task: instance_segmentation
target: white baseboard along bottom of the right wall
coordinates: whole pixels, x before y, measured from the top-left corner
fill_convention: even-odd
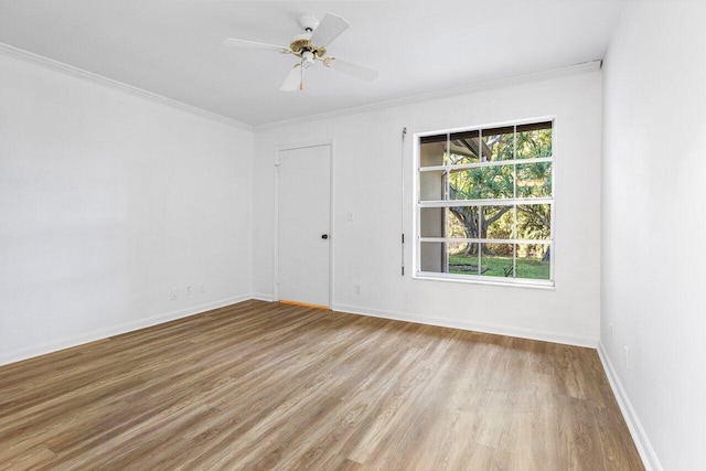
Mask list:
[[[616,368],[613,367],[602,342],[598,343],[598,356],[600,357],[600,362],[603,364],[606,376],[608,376],[608,382],[613,390],[613,396],[616,396],[616,400],[618,400],[620,411],[622,411],[622,416],[628,424],[632,441],[635,442],[640,458],[642,458],[642,464],[644,464],[646,471],[662,471],[663,468],[660,463],[660,459],[657,458],[654,448],[652,448],[648,435],[642,428],[640,418],[638,418],[635,410],[632,408],[630,397],[625,394],[625,389],[622,387],[622,383],[620,383],[620,378],[616,373]]]

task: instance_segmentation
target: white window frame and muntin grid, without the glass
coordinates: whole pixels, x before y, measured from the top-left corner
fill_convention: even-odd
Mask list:
[[[552,157],[542,157],[534,159],[513,159],[513,160],[502,160],[502,161],[491,161],[491,162],[475,162],[475,163],[466,163],[466,164],[456,164],[456,165],[434,165],[434,167],[425,167],[422,168],[420,164],[420,139],[429,136],[439,136],[439,135],[452,135],[456,132],[466,132],[466,131],[479,131],[482,138],[483,129],[492,129],[500,127],[509,127],[509,126],[522,126],[522,125],[532,125],[535,122],[552,122]],[[556,217],[556,154],[557,154],[557,146],[556,146],[556,117],[555,116],[545,116],[545,117],[535,117],[528,119],[521,120],[512,120],[512,121],[502,121],[502,122],[492,122],[484,124],[481,126],[472,126],[472,127],[463,127],[463,128],[453,128],[453,129],[442,129],[437,131],[425,131],[417,132],[414,135],[414,178],[413,178],[413,192],[414,192],[414,215],[413,215],[413,225],[414,225],[414,239],[415,246],[413,250],[413,278],[420,280],[437,280],[437,281],[453,281],[453,282],[467,282],[467,283],[479,283],[479,285],[499,285],[499,286],[513,286],[513,287],[524,287],[524,288],[541,288],[541,289],[553,289],[555,286],[555,259],[556,259],[556,250],[555,250],[555,217]],[[447,141],[448,146],[448,141]],[[429,171],[448,171],[450,169],[454,170],[464,170],[464,169],[474,169],[474,168],[489,168],[495,165],[517,165],[517,164],[527,164],[527,163],[539,163],[539,162],[552,162],[552,197],[533,197],[533,199],[486,199],[486,200],[446,200],[446,201],[420,201],[420,175],[422,172]],[[516,169],[516,167],[515,167]],[[516,186],[515,186],[516,191]],[[516,196],[516,193],[515,193]],[[490,238],[454,238],[454,237],[421,237],[421,226],[420,226],[420,212],[424,207],[451,207],[451,206],[517,206],[522,204],[549,204],[552,205],[550,212],[550,227],[549,227],[549,239],[547,240],[535,240],[535,239],[490,239]],[[516,217],[516,211],[515,211]],[[516,234],[515,234],[516,236]],[[484,275],[460,275],[460,274],[449,274],[449,272],[436,272],[436,271],[421,271],[420,269],[420,258],[421,258],[421,243],[422,242],[438,242],[438,243],[470,243],[470,244],[513,244],[516,250],[517,244],[546,244],[552,250],[552,255],[549,257],[549,279],[531,279],[531,278],[507,278],[507,277],[494,277],[494,276],[484,276]],[[479,259],[481,258],[481,254],[479,250]],[[480,266],[480,263],[479,263]],[[516,266],[516,253],[513,254],[513,271],[515,271]]]

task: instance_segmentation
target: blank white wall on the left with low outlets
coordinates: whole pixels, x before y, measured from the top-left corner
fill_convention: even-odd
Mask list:
[[[0,54],[0,364],[249,298],[252,154],[250,130]]]

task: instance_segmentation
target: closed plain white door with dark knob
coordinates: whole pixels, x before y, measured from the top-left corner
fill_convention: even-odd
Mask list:
[[[278,153],[278,298],[329,307],[331,146]]]

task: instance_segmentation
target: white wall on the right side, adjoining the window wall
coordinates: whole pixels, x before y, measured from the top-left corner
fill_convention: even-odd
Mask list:
[[[646,464],[680,471],[706,469],[704,19],[630,2],[603,67],[600,352]]]

